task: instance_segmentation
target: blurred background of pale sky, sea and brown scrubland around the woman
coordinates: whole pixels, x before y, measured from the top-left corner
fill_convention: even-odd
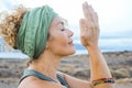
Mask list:
[[[99,16],[99,47],[116,78],[116,88],[132,88],[132,0],[0,0],[0,12],[12,12],[23,4],[35,8],[48,4],[68,22],[74,32],[76,54],[64,57],[58,69],[72,76],[89,79],[88,53],[79,41],[79,19],[84,18],[81,4],[88,3]],[[26,68],[28,56],[10,48],[0,36],[0,88],[16,88]],[[68,59],[67,59],[68,58]]]

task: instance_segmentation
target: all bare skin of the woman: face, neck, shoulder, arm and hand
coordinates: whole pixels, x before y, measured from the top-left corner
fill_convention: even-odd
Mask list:
[[[97,13],[87,2],[82,4],[85,19],[80,19],[80,41],[81,44],[89,52],[91,79],[110,78],[112,77],[108,65],[98,47],[99,25]],[[112,84],[102,84],[94,87],[90,81],[81,80],[68,76],[64,73],[57,72],[57,66],[63,56],[75,53],[73,45],[73,32],[64,26],[59,16],[56,16],[50,28],[50,38],[46,43],[46,48],[37,61],[34,61],[28,69],[34,69],[44,74],[56,82],[41,80],[36,77],[30,76],[25,78],[19,88],[63,88],[56,74],[62,75],[70,88],[113,88]]]

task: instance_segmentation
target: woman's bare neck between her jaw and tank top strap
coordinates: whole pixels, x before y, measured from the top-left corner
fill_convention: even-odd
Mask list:
[[[37,70],[41,74],[51,77],[57,81],[56,69],[59,65],[61,58],[61,56],[54,55],[45,51],[37,61],[34,61],[29,66],[29,69]]]

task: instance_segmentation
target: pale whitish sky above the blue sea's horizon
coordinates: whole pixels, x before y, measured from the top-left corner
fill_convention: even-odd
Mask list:
[[[76,37],[79,35],[79,19],[84,18],[81,3],[85,1],[98,13],[101,37],[132,38],[132,0],[0,0],[0,11],[13,10],[18,4],[28,8],[50,4],[67,19]]]

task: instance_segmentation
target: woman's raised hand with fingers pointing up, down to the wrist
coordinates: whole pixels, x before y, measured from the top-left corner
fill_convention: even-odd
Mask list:
[[[80,41],[86,47],[98,46],[99,24],[98,15],[87,2],[82,4],[85,19],[80,19]]]

